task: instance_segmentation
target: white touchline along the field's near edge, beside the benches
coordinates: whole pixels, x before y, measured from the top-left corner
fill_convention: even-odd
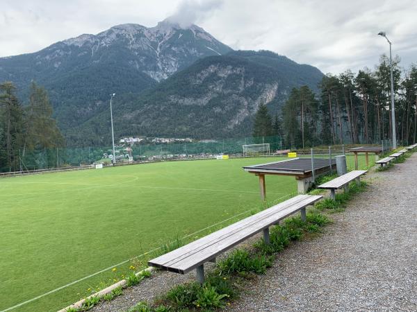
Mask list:
[[[282,199],[282,198],[285,198],[286,196],[288,196],[288,195],[282,196],[281,198],[277,198],[275,201],[280,200],[280,199]],[[203,231],[205,231],[206,229],[210,229],[211,227],[215,227],[216,225],[220,225],[220,224],[222,224],[222,223],[224,223],[224,222],[227,222],[227,221],[229,221],[229,220],[231,220],[231,219],[233,219],[233,218],[236,218],[236,217],[238,217],[238,216],[242,216],[243,214],[247,214],[248,212],[250,212],[250,211],[252,211],[252,210],[253,210],[253,209],[250,209],[250,210],[247,210],[247,211],[240,212],[240,214],[236,214],[236,215],[231,216],[230,218],[224,219],[224,220],[222,220],[222,221],[220,221],[220,222],[218,222],[218,223],[215,223],[215,224],[213,224],[213,225],[209,225],[208,227],[204,227],[204,229],[199,229],[197,232],[194,232],[194,233],[192,233],[192,234],[188,234],[188,235],[186,235],[186,236],[183,236],[183,238],[182,238],[182,239],[186,239],[186,238],[188,238],[188,237],[190,237],[190,236],[193,236],[193,235],[195,235],[195,234],[198,234],[198,233],[200,233],[200,232],[203,232]],[[145,252],[145,253],[143,253],[143,254],[140,254],[139,256],[133,257],[133,258],[131,258],[131,259],[136,259],[136,258],[143,257],[143,256],[145,256],[145,254],[149,254],[149,252],[154,252],[154,251],[159,250],[159,249],[161,249],[161,247],[155,248],[155,249],[153,249],[153,250],[149,250],[149,251],[147,251],[147,252]],[[56,293],[57,291],[60,291],[60,290],[61,290],[61,289],[63,289],[63,288],[67,288],[67,287],[72,286],[72,285],[74,285],[74,284],[76,284],[76,283],[79,283],[80,281],[84,281],[85,279],[89,279],[90,277],[93,277],[93,276],[95,276],[95,275],[99,275],[100,273],[102,273],[102,272],[106,272],[107,270],[111,270],[112,268],[115,268],[116,266],[121,266],[122,264],[124,264],[124,263],[127,263],[127,262],[131,261],[131,259],[127,259],[127,260],[122,261],[122,262],[120,262],[120,263],[114,264],[113,266],[109,266],[108,268],[105,268],[105,269],[103,269],[103,270],[99,270],[98,272],[92,273],[92,274],[90,274],[90,275],[88,275],[88,276],[86,276],[86,277],[83,277],[83,278],[81,278],[81,279],[77,279],[76,281],[72,281],[71,283],[68,283],[68,284],[66,284],[66,285],[64,285],[64,286],[60,286],[60,287],[58,287],[58,288],[55,288],[54,290],[52,290],[52,291],[48,291],[47,293],[44,293],[44,294],[42,294],[42,295],[38,295],[37,297],[33,297],[32,299],[29,299],[29,300],[26,300],[26,301],[21,302],[21,303],[19,303],[19,304],[16,304],[15,306],[10,306],[10,308],[7,308],[6,310],[0,311],[0,312],[6,312],[6,311],[10,311],[10,310],[16,309],[16,308],[18,308],[19,306],[23,306],[24,304],[28,304],[28,303],[30,303],[30,302],[33,302],[33,301],[35,301],[35,300],[38,300],[38,299],[40,299],[40,298],[42,298],[42,297],[45,297],[45,296],[47,296],[47,295],[50,295],[51,293]]]

